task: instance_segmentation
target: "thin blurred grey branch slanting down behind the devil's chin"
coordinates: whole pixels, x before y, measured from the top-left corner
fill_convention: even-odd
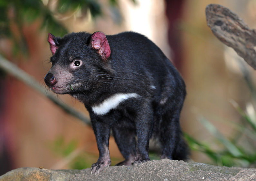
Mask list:
[[[6,60],[2,55],[0,55],[0,69],[2,69],[8,74],[13,75],[15,78],[32,87],[34,90],[37,90],[38,92],[42,93],[44,96],[52,100],[52,102],[54,102],[56,105],[62,108],[66,113],[71,114],[72,116],[82,120],[87,125],[90,125],[90,119],[87,118],[87,116],[78,112],[74,108],[69,107],[61,100],[57,99],[56,96],[54,96],[52,93],[46,93],[44,88],[41,87],[40,84],[32,76],[21,70],[15,64]]]

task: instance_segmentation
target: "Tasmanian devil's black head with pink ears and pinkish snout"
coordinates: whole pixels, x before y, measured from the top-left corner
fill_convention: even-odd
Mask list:
[[[99,86],[100,73],[108,73],[109,42],[103,32],[70,33],[63,38],[48,34],[52,68],[44,82],[57,94],[90,90]]]

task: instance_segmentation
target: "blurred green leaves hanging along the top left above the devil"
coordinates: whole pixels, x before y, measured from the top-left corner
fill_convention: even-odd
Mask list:
[[[135,2],[134,0],[132,0]],[[49,0],[49,2],[51,2]],[[18,52],[27,55],[27,44],[23,34],[26,23],[32,23],[39,19],[41,29],[46,29],[57,36],[67,33],[67,28],[56,17],[65,16],[65,13],[80,11],[86,16],[88,11],[91,17],[102,15],[102,4],[97,0],[56,0],[57,7],[50,8],[43,0],[1,0],[0,1],[0,37],[11,39],[13,42],[13,54]],[[121,21],[117,0],[109,0],[110,8],[113,8],[116,22]],[[58,16],[55,16],[58,15]]]

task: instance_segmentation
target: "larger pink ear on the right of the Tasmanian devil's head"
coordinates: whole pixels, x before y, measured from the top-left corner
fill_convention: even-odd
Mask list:
[[[106,35],[103,32],[97,31],[91,35],[91,47],[98,50],[98,53],[104,60],[107,60],[110,56],[109,42]]]

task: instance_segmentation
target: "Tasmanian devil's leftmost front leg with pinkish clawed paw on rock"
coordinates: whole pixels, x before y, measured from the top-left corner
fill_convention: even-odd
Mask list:
[[[99,159],[91,166],[91,174],[98,175],[104,167],[111,165],[109,156],[109,125],[100,119],[91,119],[92,128],[96,137],[98,150],[100,153]]]

